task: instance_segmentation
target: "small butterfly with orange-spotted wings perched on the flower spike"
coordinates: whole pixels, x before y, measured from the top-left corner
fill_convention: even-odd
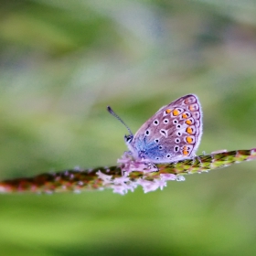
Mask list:
[[[121,123],[123,120],[108,106]],[[131,129],[124,141],[136,160],[171,163],[196,155],[202,130],[202,109],[195,94],[187,94],[162,107],[133,135]]]

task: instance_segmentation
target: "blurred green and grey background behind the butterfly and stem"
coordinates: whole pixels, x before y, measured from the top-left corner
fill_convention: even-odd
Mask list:
[[[187,93],[197,154],[256,147],[255,0],[0,1],[0,178],[114,165]],[[254,255],[256,162],[163,191],[0,196],[0,255]]]

